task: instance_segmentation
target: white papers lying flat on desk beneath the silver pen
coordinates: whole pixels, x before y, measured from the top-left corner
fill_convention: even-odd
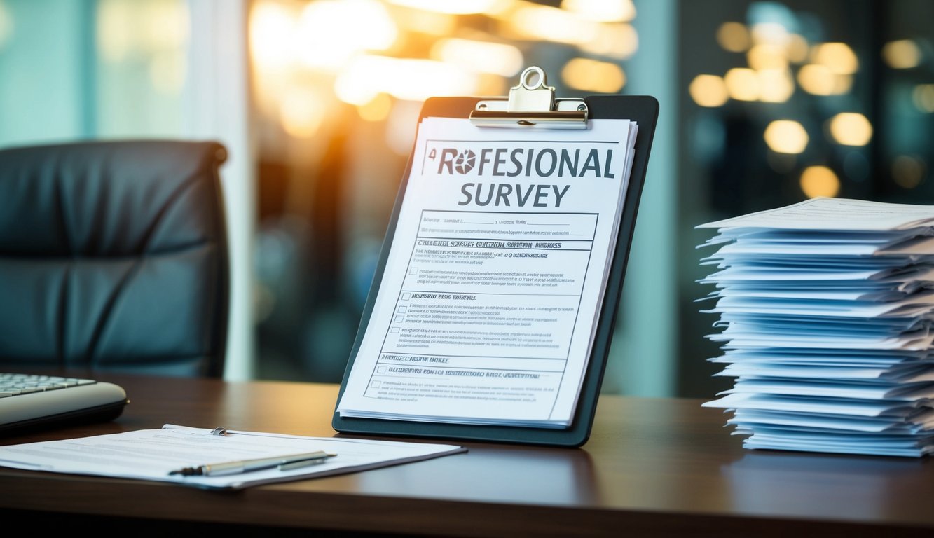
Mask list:
[[[277,466],[239,474],[182,475],[178,469],[215,463],[277,458],[321,450],[334,455],[312,465]],[[303,437],[212,430],[166,424],[92,437],[0,446],[0,466],[50,473],[91,474],[173,482],[205,489],[240,489],[333,474],[347,474],[466,452],[463,446]]]

